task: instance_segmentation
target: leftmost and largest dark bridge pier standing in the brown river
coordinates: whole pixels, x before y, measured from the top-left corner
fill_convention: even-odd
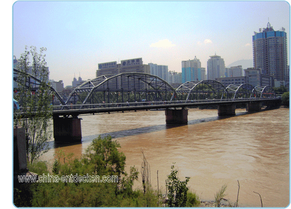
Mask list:
[[[80,142],[82,139],[81,119],[74,118],[54,118],[54,138],[55,141]]]

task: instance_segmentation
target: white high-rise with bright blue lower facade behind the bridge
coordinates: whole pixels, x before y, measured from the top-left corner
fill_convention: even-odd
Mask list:
[[[193,60],[182,61],[182,83],[202,80],[205,80],[205,68],[201,68],[196,56]]]

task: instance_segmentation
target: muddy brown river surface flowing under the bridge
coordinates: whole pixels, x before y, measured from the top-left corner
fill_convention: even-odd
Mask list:
[[[200,200],[214,200],[227,184],[225,198],[239,207],[287,207],[290,204],[289,109],[218,117],[217,110],[189,109],[188,124],[165,124],[164,111],[139,111],[80,116],[82,143],[56,147],[40,159],[50,164],[56,151],[84,154],[92,139],[111,135],[126,156],[126,170],[140,171],[142,151],[151,169],[151,184],[165,194],[171,166]],[[59,144],[58,144],[59,146]],[[135,188],[142,188],[141,175]],[[257,193],[254,193],[257,192]]]

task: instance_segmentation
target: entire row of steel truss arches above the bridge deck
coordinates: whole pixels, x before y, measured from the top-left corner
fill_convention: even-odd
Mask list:
[[[13,80],[14,91],[18,90],[18,75],[21,73],[14,70]],[[27,78],[26,86],[34,91],[39,88],[40,80],[29,73],[25,73]],[[214,80],[188,81],[176,90],[161,78],[138,72],[120,73],[117,75],[102,75],[95,79],[88,80],[76,87],[66,101],[58,92],[50,86],[52,101],[56,96],[62,105],[67,105],[76,97],[81,102],[79,104],[127,104],[141,102],[159,101],[185,101],[194,100],[218,100],[218,99],[239,99],[239,98],[272,98],[275,91],[270,86],[253,87],[249,84],[229,85],[224,87],[220,82]],[[72,99],[73,98],[73,99]]]

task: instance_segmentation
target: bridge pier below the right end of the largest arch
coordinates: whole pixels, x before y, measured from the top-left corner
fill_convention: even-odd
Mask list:
[[[188,109],[166,109],[166,124],[188,123]]]

